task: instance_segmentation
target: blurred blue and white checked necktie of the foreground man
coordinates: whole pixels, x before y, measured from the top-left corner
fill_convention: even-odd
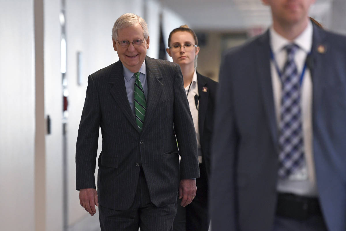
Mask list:
[[[284,47],[287,60],[281,79],[280,108],[280,153],[279,177],[287,178],[302,166],[304,162],[304,142],[300,108],[300,76],[294,62],[294,54],[299,49],[295,44]]]

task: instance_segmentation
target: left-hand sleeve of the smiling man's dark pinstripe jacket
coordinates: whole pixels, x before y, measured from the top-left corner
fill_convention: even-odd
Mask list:
[[[100,127],[100,102],[92,75],[88,87],[79,124],[76,144],[76,189],[96,188],[95,165]]]

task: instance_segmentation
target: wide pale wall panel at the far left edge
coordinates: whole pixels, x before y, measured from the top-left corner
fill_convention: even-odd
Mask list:
[[[0,229],[33,231],[33,0],[0,0],[0,6]]]

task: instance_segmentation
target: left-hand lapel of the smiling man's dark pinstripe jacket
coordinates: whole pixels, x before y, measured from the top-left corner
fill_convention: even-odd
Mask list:
[[[130,124],[132,124],[136,128],[136,130],[140,132],[135,122],[135,117],[133,115],[127,98],[124,73],[122,70],[122,63],[120,62],[120,60],[116,62],[113,66],[113,69],[109,76],[108,83],[112,85],[110,89],[110,94],[113,96],[113,98],[121,108],[122,112],[124,112]]]

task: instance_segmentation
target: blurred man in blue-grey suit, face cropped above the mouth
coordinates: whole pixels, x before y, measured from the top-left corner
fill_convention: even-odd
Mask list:
[[[315,0],[263,0],[273,25],[220,68],[212,230],[346,230],[346,38]]]

